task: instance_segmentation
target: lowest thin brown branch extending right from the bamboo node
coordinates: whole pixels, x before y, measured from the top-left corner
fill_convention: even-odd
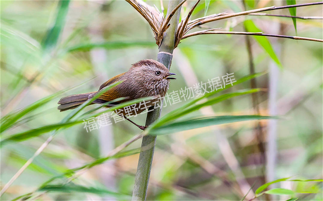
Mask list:
[[[262,32],[230,32],[230,31],[198,31],[193,32],[191,34],[186,34],[183,36],[182,39],[188,38],[190,36],[194,35],[200,35],[200,34],[238,34],[238,35],[257,35],[257,36],[269,36],[269,37],[277,37],[277,38],[289,38],[294,40],[305,40],[305,41],[316,41],[316,42],[323,42],[322,39],[317,38],[308,38],[308,37],[300,37],[300,36],[287,36],[287,35],[277,35],[277,34],[263,34]]]

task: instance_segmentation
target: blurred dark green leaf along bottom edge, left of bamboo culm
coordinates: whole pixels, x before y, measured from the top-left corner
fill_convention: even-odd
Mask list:
[[[116,193],[113,191],[109,191],[107,189],[98,188],[98,187],[85,187],[85,186],[76,185],[76,184],[47,185],[47,186],[41,187],[40,189],[38,189],[38,191],[51,191],[51,192],[56,191],[56,192],[65,192],[65,193],[81,192],[81,193],[93,193],[98,195],[112,195],[118,198],[120,197],[130,198],[129,195]]]

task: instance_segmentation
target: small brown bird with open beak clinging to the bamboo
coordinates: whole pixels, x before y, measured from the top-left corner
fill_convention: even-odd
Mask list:
[[[137,63],[132,64],[129,71],[121,73],[114,76],[110,80],[104,82],[100,87],[99,91],[104,87],[118,81],[123,81],[117,86],[109,89],[105,93],[99,96],[96,100],[92,102],[103,104],[108,101],[113,101],[117,98],[126,97],[126,99],[108,104],[107,107],[115,106],[121,102],[130,101],[142,97],[155,96],[155,97],[164,97],[166,91],[169,87],[169,80],[176,79],[173,77],[168,77],[170,75],[176,75],[175,73],[169,72],[169,70],[161,63],[153,59],[141,60]],[[98,91],[70,95],[64,98],[61,98],[58,101],[58,110],[65,111],[77,108],[83,102],[91,99]],[[135,122],[128,119],[127,115],[139,114],[142,111],[146,110],[148,106],[154,105],[154,102],[158,98],[151,101],[147,101],[146,107],[140,107],[140,104],[136,104],[131,110],[127,112],[125,110],[119,110],[123,114],[123,117],[136,125],[138,128],[144,130],[146,126],[140,126]]]

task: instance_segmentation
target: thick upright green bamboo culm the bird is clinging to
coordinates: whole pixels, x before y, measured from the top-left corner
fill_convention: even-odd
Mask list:
[[[168,16],[172,10],[180,3],[180,0],[173,0],[168,3]],[[170,26],[163,35],[163,40],[159,47],[157,61],[163,63],[168,69],[172,63],[172,53],[174,50],[175,33],[179,23],[181,8],[179,8],[170,21]],[[146,126],[153,123],[160,117],[161,108],[148,112],[146,118]],[[142,138],[141,151],[135,177],[135,185],[132,192],[132,200],[146,200],[149,176],[151,171],[151,163],[154,155],[156,136],[146,135]]]

